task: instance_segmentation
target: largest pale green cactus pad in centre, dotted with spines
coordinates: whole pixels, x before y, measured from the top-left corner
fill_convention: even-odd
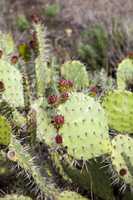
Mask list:
[[[69,99],[58,107],[58,114],[64,116],[60,134],[69,155],[88,160],[110,153],[104,110],[92,97],[71,93]]]

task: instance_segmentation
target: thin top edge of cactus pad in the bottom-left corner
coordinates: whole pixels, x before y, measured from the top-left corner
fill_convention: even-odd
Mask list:
[[[10,194],[6,195],[4,198],[0,198],[0,200],[32,200],[30,197],[26,197],[23,195]]]

